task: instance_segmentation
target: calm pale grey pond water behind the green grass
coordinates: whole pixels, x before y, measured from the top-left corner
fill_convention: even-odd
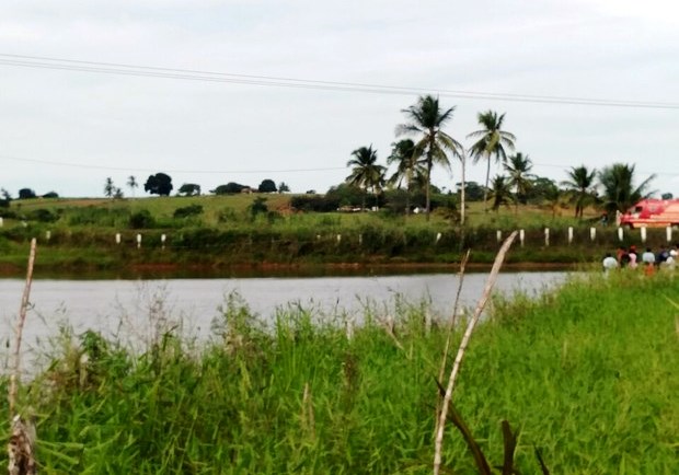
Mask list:
[[[500,274],[496,292],[536,293],[563,281],[566,273]],[[461,292],[462,305],[474,305],[481,297],[486,274],[468,274]],[[24,282],[0,279],[0,327],[3,340],[11,336]],[[38,279],[31,291],[32,308],[24,340],[35,345],[57,333],[67,321],[77,333],[88,328],[107,335],[120,331],[136,332],[148,322],[149,312],[182,320],[196,336],[209,334],[210,322],[218,315],[226,296],[238,292],[251,310],[271,321],[276,309],[299,304],[314,313],[347,315],[361,320],[367,302],[393,303],[396,296],[417,303],[430,301],[434,316],[452,312],[458,275],[422,274],[398,276],[314,277],[314,278],[217,278],[217,279]]]

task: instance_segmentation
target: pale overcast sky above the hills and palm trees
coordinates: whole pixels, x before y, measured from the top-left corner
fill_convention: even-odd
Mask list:
[[[99,197],[111,177],[143,196],[163,172],[175,190],[325,192],[359,147],[385,163],[433,94],[467,147],[492,109],[539,176],[629,163],[679,197],[678,58],[669,0],[8,0],[0,187]],[[460,177],[452,161],[433,182]]]

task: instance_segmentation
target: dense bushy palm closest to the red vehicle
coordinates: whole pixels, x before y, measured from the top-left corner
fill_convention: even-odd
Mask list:
[[[624,212],[640,199],[647,198],[654,192],[648,192],[651,181],[655,174],[634,186],[634,165],[613,163],[599,172],[599,183],[603,187],[603,207],[609,212]]]

